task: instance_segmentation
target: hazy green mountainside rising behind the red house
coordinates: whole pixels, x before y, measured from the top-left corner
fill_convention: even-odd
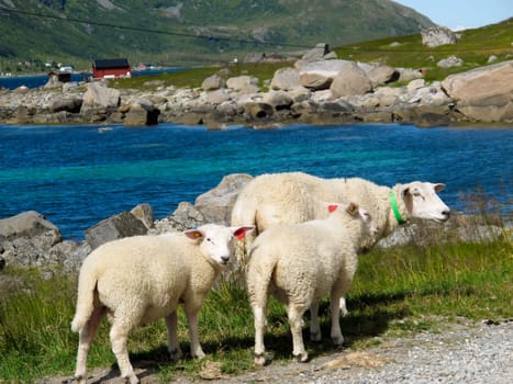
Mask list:
[[[133,65],[205,64],[432,25],[389,0],[0,0],[0,71],[18,61],[89,66],[111,57]]]

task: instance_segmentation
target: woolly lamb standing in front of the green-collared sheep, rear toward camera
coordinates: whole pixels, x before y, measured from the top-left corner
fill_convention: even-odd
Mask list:
[[[268,297],[272,293],[287,306],[293,355],[308,361],[302,338],[302,317],[310,307],[310,337],[321,340],[319,302],[331,296],[331,337],[342,346],[339,298],[344,296],[358,264],[361,241],[378,228],[369,213],[355,203],[331,204],[327,218],[301,224],[275,225],[253,244],[247,268],[247,291],[255,316],[255,363],[265,364],[264,328]]]

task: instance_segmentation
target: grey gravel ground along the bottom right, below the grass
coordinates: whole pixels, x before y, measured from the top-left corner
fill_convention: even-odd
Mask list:
[[[436,331],[409,337],[386,336],[365,350],[343,350],[308,363],[274,362],[252,373],[224,376],[208,362],[202,376],[175,375],[172,383],[312,383],[312,384],[509,384],[513,383],[513,319],[443,323]],[[372,340],[370,340],[372,341]],[[155,366],[136,369],[142,384],[161,383]],[[93,370],[89,383],[122,383],[116,369]],[[38,383],[73,383],[53,377]]]

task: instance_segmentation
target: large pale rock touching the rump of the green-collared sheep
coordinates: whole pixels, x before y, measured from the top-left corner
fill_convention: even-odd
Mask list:
[[[230,225],[232,207],[241,190],[253,179],[246,173],[225,176],[213,190],[199,195],[194,206],[209,222]]]

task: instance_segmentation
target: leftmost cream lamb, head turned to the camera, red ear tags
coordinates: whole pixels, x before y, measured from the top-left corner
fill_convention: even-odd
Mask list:
[[[165,317],[171,359],[182,355],[177,338],[177,306],[183,303],[191,354],[203,358],[198,313],[222,268],[233,255],[232,238],[243,239],[254,226],[207,224],[183,233],[134,236],[107,242],[83,261],[71,329],[79,332],[75,377],[87,381],[87,355],[103,315],[121,376],[138,383],[129,360],[129,332]]]

